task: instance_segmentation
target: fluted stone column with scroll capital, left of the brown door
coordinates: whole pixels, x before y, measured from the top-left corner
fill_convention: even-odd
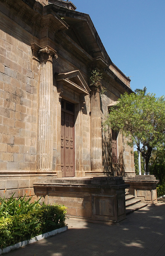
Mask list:
[[[52,170],[53,163],[53,67],[52,58],[56,52],[46,46],[39,51],[39,108],[38,108],[38,154],[37,169]]]

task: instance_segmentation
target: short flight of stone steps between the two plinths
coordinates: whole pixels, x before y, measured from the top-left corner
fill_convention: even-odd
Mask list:
[[[135,212],[143,207],[147,206],[146,203],[141,202],[141,199],[135,198],[135,196],[129,194],[129,192],[125,193],[125,210],[126,214],[131,212]]]

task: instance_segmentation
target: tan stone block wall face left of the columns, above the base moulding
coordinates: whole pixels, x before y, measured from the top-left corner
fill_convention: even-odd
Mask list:
[[[0,170],[36,170],[38,70],[30,46],[5,29],[0,38]]]

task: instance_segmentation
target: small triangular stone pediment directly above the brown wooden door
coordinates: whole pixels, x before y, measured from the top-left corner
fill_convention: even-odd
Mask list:
[[[79,94],[89,94],[90,89],[79,70],[57,75],[57,83],[62,83]]]

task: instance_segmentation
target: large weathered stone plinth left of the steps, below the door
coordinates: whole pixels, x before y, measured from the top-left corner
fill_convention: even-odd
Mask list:
[[[125,185],[121,177],[54,179],[35,183],[37,198],[64,204],[68,216],[90,221],[119,222],[125,215]]]

